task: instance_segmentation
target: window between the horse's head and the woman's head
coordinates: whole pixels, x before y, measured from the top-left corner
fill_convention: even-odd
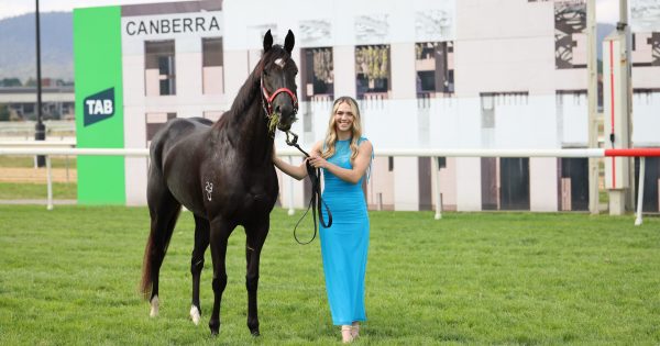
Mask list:
[[[334,99],[334,66],[332,48],[300,49],[300,78],[302,83],[302,100]]]

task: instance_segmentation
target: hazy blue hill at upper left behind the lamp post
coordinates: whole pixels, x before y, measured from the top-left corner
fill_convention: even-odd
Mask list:
[[[42,78],[74,80],[72,12],[40,14]],[[0,20],[0,79],[36,79],[34,13]]]

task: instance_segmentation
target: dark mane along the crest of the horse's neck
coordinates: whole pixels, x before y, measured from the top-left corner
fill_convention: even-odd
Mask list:
[[[273,45],[271,49],[263,54],[250,76],[248,76],[245,83],[243,83],[237,98],[231,104],[231,109],[222,114],[213,126],[222,126],[222,123],[227,121],[227,118],[241,116],[241,114],[244,114],[250,110],[252,102],[255,102],[255,100],[261,102],[261,76],[263,71],[270,69],[278,58],[287,60],[290,58],[290,54],[288,54],[283,46]]]

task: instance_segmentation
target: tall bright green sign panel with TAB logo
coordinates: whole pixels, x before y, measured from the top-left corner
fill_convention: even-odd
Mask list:
[[[123,148],[121,7],[74,11],[76,138]],[[78,203],[125,204],[123,156],[78,156]]]

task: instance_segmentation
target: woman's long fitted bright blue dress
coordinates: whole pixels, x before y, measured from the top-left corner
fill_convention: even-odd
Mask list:
[[[361,137],[359,143],[366,141]],[[328,158],[342,168],[352,168],[350,139],[338,141]],[[350,183],[323,169],[322,198],[332,213],[332,225],[320,230],[321,256],[332,323],[348,325],[366,321],[364,274],[369,248],[369,215],[362,180]],[[326,210],[323,217],[327,220]]]

